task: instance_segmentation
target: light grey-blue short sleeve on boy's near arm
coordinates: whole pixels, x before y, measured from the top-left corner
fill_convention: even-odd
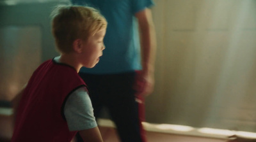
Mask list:
[[[85,87],[77,89],[68,96],[63,111],[70,131],[97,127],[92,102]]]

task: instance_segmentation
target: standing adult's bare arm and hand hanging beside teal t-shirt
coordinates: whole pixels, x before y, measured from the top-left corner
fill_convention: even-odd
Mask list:
[[[138,76],[138,80],[143,82],[143,86],[137,85],[136,89],[140,91],[140,95],[147,96],[154,88],[156,33],[150,9],[145,8],[145,10],[138,11],[135,16],[138,19],[141,42],[142,71],[141,75]]]

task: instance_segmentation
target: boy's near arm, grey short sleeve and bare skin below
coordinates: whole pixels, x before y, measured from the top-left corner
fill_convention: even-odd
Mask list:
[[[85,87],[75,90],[68,96],[63,112],[70,131],[78,131],[84,141],[102,141]]]

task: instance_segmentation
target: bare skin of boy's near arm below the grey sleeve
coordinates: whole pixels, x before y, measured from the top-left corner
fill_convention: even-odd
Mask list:
[[[98,127],[79,131],[79,134],[83,138],[84,141],[92,141],[92,142],[102,142],[103,141]]]

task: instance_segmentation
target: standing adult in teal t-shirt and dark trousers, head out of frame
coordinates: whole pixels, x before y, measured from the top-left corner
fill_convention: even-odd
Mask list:
[[[91,94],[95,117],[106,106],[120,139],[145,140],[141,125],[143,96],[154,87],[156,37],[150,6],[152,0],[71,0],[92,6],[106,17],[106,49],[93,69],[79,75]],[[141,111],[142,110],[142,111]]]

